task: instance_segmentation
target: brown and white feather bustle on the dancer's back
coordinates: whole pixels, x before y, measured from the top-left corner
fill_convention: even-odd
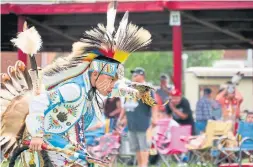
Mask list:
[[[12,66],[8,68],[8,75],[1,74],[0,147],[3,154],[11,153],[17,147],[16,138],[28,114],[29,91],[27,92],[27,87],[24,85],[28,85],[28,83],[25,83],[26,81],[31,81],[29,77],[24,78],[25,73],[23,72],[26,71],[26,67],[23,65],[23,63],[18,61],[16,62],[15,68]],[[22,82],[20,82],[20,77],[22,78]],[[15,86],[14,83],[16,84]]]

